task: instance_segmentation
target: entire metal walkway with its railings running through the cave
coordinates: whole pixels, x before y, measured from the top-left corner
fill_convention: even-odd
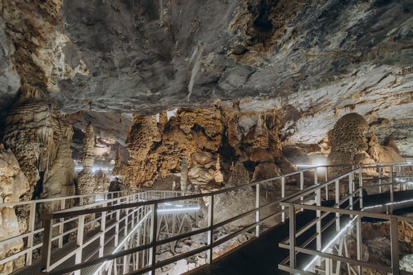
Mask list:
[[[78,205],[84,205],[69,209],[62,209],[67,199],[61,198],[60,204],[53,202],[60,205],[61,210],[41,214],[44,229],[36,229],[33,225],[29,227],[32,232],[12,238],[23,238],[28,243],[18,255],[25,256],[28,266],[14,274],[36,274],[39,271],[41,274],[157,274],[171,263],[200,254],[207,254],[207,265],[188,274],[288,272],[338,275],[337,270],[343,266],[347,266],[348,274],[362,274],[363,267],[372,265],[363,262],[359,255],[361,236],[357,235],[357,259],[352,259],[347,253],[343,236],[353,225],[357,232],[360,231],[361,217],[388,219],[392,228],[390,239],[394,243],[397,221],[413,223],[412,218],[392,214],[394,209],[412,203],[409,199],[398,201],[398,194],[413,189],[412,166],[411,163],[353,166],[349,173],[332,180],[328,178],[328,170],[333,167],[311,167],[203,194],[166,196],[161,193],[148,195],[145,191],[115,199],[94,195],[95,202],[89,204],[82,203],[87,199],[76,198],[80,201]],[[381,197],[387,197],[387,200],[377,205],[368,204],[366,190],[369,196],[386,193]],[[214,214],[218,210],[214,201],[231,199],[238,192],[251,196],[254,203],[246,203],[248,209],[231,213],[230,218]],[[326,206],[323,201],[332,205]],[[30,203],[34,202],[26,204],[35,210],[37,206]],[[365,209],[359,211],[363,206]],[[383,210],[387,214],[381,213]],[[204,224],[197,223],[198,215],[204,216]],[[227,225],[239,221],[242,221],[241,227],[232,227],[232,231],[224,235],[218,234]],[[331,232],[338,237],[330,243]],[[36,234],[44,235],[43,243],[36,243],[36,239],[40,239]],[[220,256],[219,248],[242,234],[255,237],[233,252]],[[200,243],[191,250],[173,253],[167,259],[159,258],[160,250],[167,247],[173,251],[177,242],[193,236],[197,236]],[[278,243],[284,249],[283,253],[279,253]],[[41,260],[34,261],[40,247]],[[9,261],[11,257],[15,259],[16,256],[10,256]],[[309,257],[314,259],[309,263],[303,260]],[[394,246],[392,266],[374,267],[393,274],[411,274],[399,270],[399,258],[399,251]],[[0,261],[6,262],[7,259]],[[237,263],[242,268],[231,267],[230,272],[228,263]],[[249,265],[254,265],[254,269],[247,267]]]

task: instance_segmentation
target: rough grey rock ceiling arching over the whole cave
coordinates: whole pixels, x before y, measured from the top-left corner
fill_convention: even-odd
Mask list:
[[[0,1],[1,120],[37,97],[120,142],[132,113],[215,104],[308,144],[354,111],[413,155],[412,71],[412,0]]]

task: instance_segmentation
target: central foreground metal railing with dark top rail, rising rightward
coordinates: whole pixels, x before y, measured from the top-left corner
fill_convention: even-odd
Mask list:
[[[279,201],[286,197],[288,193],[288,187],[294,186],[296,190],[304,190],[305,186],[317,185],[318,173],[317,167],[307,168],[305,170],[299,170],[288,175],[282,175],[275,177],[273,179],[267,179],[264,181],[258,181],[250,184],[245,184],[242,186],[235,186],[231,188],[226,188],[224,190],[218,190],[215,192],[207,192],[202,194],[184,195],[182,197],[169,197],[160,198],[151,201],[136,201],[131,203],[125,203],[123,205],[114,205],[100,208],[89,208],[85,210],[71,210],[71,211],[58,211],[49,214],[43,214],[42,219],[45,220],[45,240],[42,251],[42,271],[43,274],[62,274],[69,272],[76,272],[76,274],[81,274],[81,270],[91,267],[93,265],[103,265],[107,261],[115,261],[116,259],[121,259],[125,255],[132,255],[136,253],[145,252],[148,255],[147,263],[144,267],[139,267],[134,270],[133,274],[156,274],[160,267],[169,265],[181,259],[186,259],[189,256],[194,256],[202,252],[207,253],[207,262],[211,263],[214,259],[214,252],[218,249],[219,245],[231,241],[237,238],[240,234],[254,234],[255,236],[260,236],[262,232],[270,228],[272,225],[284,221],[286,218],[284,208],[279,207]],[[265,190],[265,196],[263,196],[262,190]],[[271,190],[273,192],[271,193]],[[295,192],[294,191],[294,192]],[[182,191],[185,192],[185,191]],[[238,212],[231,214],[230,217],[221,217],[215,212],[218,211],[215,206],[216,201],[229,201],[231,198],[236,197],[237,192],[241,192],[243,195],[247,194],[252,196],[249,199],[250,203],[243,203],[244,208],[237,209]],[[291,191],[293,192],[293,191]],[[268,195],[269,194],[269,195]],[[248,201],[245,197],[240,197],[242,201]],[[271,199],[272,198],[272,199]],[[160,221],[159,216],[162,210],[168,204],[175,205],[189,205],[189,201],[201,200],[207,201],[204,207],[204,225],[200,225],[197,228],[193,228],[190,232],[184,232],[180,234],[173,234],[164,239],[159,238],[159,232],[156,230],[158,228],[158,222]],[[136,243],[134,247],[123,248],[123,250],[105,254],[103,256],[98,256],[95,259],[81,261],[81,256],[78,256],[78,260],[71,267],[64,269],[56,269],[57,264],[50,262],[50,257],[52,254],[52,241],[54,236],[52,235],[52,227],[54,220],[56,219],[84,219],[85,216],[94,214],[96,216],[104,216],[104,213],[109,211],[116,212],[120,210],[134,210],[137,208],[146,207],[150,209],[149,211],[149,243]],[[234,225],[235,223],[235,225]],[[218,234],[223,228],[230,228],[230,230],[225,230],[227,234]],[[103,233],[99,233],[103,234]],[[183,252],[181,254],[175,254],[158,261],[156,251],[162,245],[167,245],[172,242],[176,242],[191,236],[198,236],[202,239],[202,245],[197,245],[197,248],[190,250],[189,252]],[[80,243],[80,245],[82,245]],[[81,253],[81,248],[78,248],[77,252]],[[72,255],[73,256],[73,255]],[[126,269],[125,269],[126,270]],[[130,271],[130,270],[129,270]],[[125,272],[125,271],[124,271]]]

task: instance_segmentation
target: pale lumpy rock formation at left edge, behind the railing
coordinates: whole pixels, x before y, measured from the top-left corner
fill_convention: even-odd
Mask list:
[[[12,151],[0,144],[0,203],[19,201],[29,184]],[[25,232],[26,223],[17,217],[12,207],[0,207],[0,241]],[[16,254],[23,248],[23,239],[5,243],[0,248],[0,259]],[[0,265],[0,274],[10,274],[24,265],[24,256]]]

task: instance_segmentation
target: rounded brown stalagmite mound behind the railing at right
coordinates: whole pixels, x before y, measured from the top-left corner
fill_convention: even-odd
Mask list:
[[[358,113],[348,113],[337,120],[331,131],[331,151],[328,164],[368,164],[374,162],[403,162],[399,149],[390,140],[390,146],[377,144],[374,133],[367,136],[369,124]],[[333,173],[341,175],[351,169],[336,168]]]

